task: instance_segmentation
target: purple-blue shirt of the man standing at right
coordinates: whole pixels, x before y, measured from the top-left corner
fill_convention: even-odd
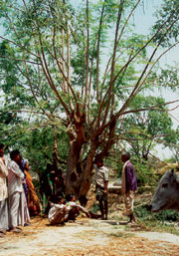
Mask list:
[[[135,168],[130,161],[125,166],[125,186],[126,191],[136,191],[137,189]]]

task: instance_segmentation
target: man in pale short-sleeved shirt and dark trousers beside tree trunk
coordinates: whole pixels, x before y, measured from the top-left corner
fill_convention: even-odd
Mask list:
[[[108,169],[103,166],[102,159],[95,161],[95,198],[99,202],[102,219],[107,219],[108,214]]]

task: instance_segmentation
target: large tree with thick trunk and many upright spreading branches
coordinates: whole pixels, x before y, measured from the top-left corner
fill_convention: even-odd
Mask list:
[[[132,112],[160,109],[128,107],[152,86],[155,64],[178,44],[157,55],[178,25],[179,5],[148,37],[135,34],[130,21],[143,2],[0,0],[2,89],[17,95],[11,111],[43,115],[49,125],[66,128],[67,193],[79,198],[89,190],[93,160],[107,156],[116,141],[117,122]],[[9,64],[15,69],[11,81]],[[23,96],[29,109],[20,102]]]

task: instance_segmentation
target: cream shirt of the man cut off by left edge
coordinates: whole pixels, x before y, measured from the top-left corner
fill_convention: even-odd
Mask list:
[[[8,169],[0,157],[0,201],[5,200],[8,197],[8,189],[6,178],[8,176]]]

